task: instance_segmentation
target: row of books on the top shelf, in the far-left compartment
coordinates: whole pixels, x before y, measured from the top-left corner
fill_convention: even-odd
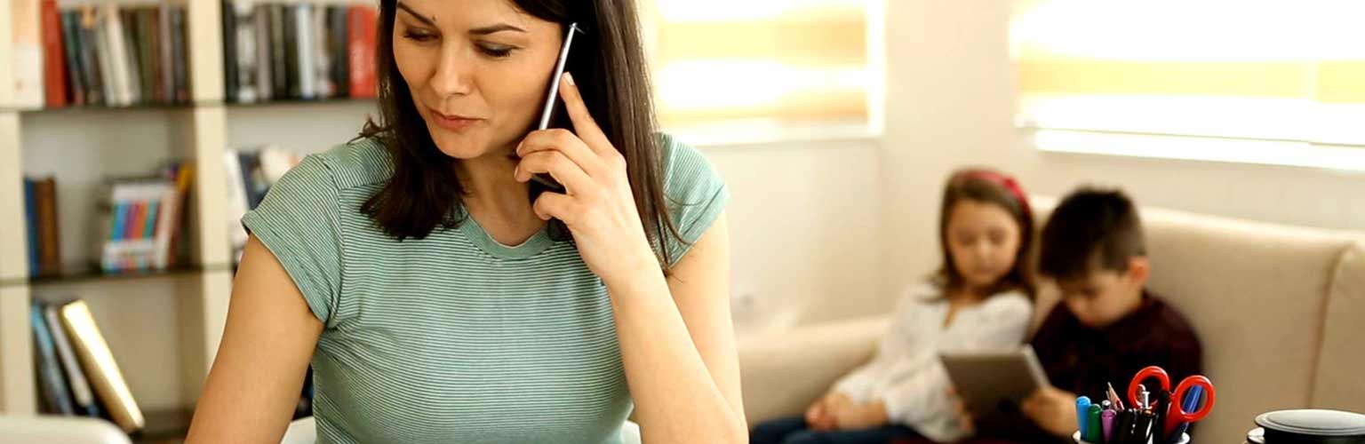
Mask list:
[[[56,0],[15,1],[41,1],[42,49],[27,57],[38,59],[34,64],[16,64],[19,104],[130,106],[190,99],[184,7],[59,8]],[[25,48],[16,42],[15,50]]]

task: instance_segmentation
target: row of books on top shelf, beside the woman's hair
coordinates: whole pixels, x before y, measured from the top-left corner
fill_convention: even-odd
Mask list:
[[[374,97],[375,20],[371,5],[222,0],[227,99]]]

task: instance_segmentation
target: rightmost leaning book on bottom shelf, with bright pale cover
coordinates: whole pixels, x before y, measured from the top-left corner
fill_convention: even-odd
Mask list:
[[[90,315],[90,308],[85,301],[72,301],[61,305],[61,324],[71,339],[72,349],[81,361],[94,394],[104,402],[109,418],[127,433],[136,432],[146,426],[142,409],[138,407],[128,383],[119,370],[109,345],[104,340],[100,327]]]

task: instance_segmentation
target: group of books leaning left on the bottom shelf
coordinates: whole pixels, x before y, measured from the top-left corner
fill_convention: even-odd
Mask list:
[[[42,413],[105,418],[128,433],[146,425],[85,301],[34,301],[30,324]]]

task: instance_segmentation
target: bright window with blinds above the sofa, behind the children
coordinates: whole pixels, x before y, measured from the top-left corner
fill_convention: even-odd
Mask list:
[[[1354,157],[1365,169],[1351,148],[1365,147],[1362,14],[1346,0],[1021,0],[1018,124],[1044,150],[1306,165],[1323,154],[1336,165],[1316,166]]]

